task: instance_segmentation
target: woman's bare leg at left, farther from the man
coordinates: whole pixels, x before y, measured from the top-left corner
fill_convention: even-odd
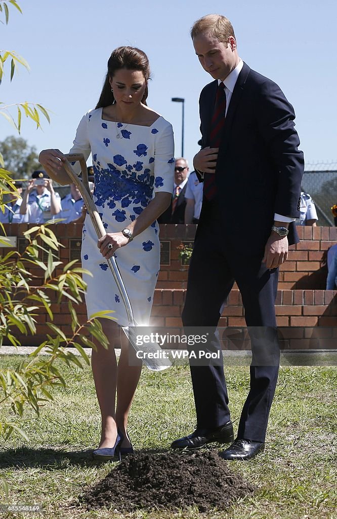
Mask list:
[[[113,447],[117,438],[115,417],[117,362],[115,342],[119,338],[116,323],[103,319],[103,332],[109,339],[109,348],[105,349],[95,340],[97,351],[92,350],[91,367],[95,381],[97,399],[102,415],[102,434],[99,448]]]

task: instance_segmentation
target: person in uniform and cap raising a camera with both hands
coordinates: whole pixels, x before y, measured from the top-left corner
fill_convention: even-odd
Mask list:
[[[29,223],[43,224],[58,218],[61,211],[61,199],[55,193],[52,180],[43,170],[34,171],[32,180],[24,192],[20,214],[29,214]]]

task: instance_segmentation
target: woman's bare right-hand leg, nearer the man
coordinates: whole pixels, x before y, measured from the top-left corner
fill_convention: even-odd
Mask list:
[[[130,447],[127,436],[128,415],[133,401],[134,394],[137,389],[139,377],[142,371],[142,362],[136,358],[136,354],[132,346],[130,346],[130,360],[134,360],[130,366],[129,363],[129,342],[124,332],[121,330],[121,355],[118,362],[117,372],[117,409],[116,421],[119,430],[124,436],[121,444],[122,447]]]

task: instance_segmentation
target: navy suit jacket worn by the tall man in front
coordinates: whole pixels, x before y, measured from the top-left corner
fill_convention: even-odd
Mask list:
[[[218,81],[212,81],[200,94],[203,148],[210,145],[217,86]],[[293,107],[280,88],[244,63],[219,146],[216,196],[225,234],[243,233],[242,239],[249,235],[259,249],[270,236],[274,213],[293,218],[300,214],[304,157],[298,149],[294,118]],[[288,240],[289,244],[299,241],[294,223],[289,226]]]

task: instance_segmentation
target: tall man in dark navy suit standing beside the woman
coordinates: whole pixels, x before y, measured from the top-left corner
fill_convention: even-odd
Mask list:
[[[221,357],[216,327],[236,281],[252,363],[235,440],[222,357],[217,365],[191,363],[197,427],[172,447],[232,442],[221,456],[245,460],[264,449],[278,376],[278,267],[287,260],[288,244],[298,241],[293,222],[304,159],[291,104],[273,81],[240,59],[230,21],[208,15],[195,22],[191,36],[214,81],[200,95],[202,149],[194,168],[204,196],[182,321],[185,328],[207,327],[207,348],[220,350]]]

